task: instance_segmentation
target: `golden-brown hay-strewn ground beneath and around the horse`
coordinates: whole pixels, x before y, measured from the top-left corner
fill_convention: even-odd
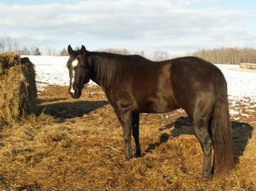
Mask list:
[[[86,87],[79,100],[67,87],[40,93],[43,113],[0,132],[0,190],[256,190],[250,121],[232,122],[235,169],[207,180],[182,110],[141,114],[143,156],[126,161],[121,126],[100,88]]]

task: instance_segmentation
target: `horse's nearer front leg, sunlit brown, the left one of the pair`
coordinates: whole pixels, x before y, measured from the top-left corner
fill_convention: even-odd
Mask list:
[[[131,148],[131,125],[132,125],[132,114],[129,109],[115,109],[118,120],[122,125],[123,138],[125,139],[126,147],[126,160],[132,158],[133,150]]]

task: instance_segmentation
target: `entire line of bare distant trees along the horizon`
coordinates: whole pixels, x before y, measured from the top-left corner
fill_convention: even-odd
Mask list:
[[[80,47],[77,48],[80,49]],[[29,48],[24,46],[23,49],[19,49],[19,43],[17,40],[11,40],[10,37],[0,40],[0,53],[11,51],[21,55],[42,55],[37,46],[31,45]],[[180,55],[173,55],[162,50],[157,50],[151,54],[146,54],[144,51],[128,50],[126,48],[100,48],[96,51],[123,55],[138,54],[152,61],[163,61],[171,58],[181,57]],[[55,48],[46,46],[44,52],[47,56],[69,56],[67,49],[65,48],[57,51]],[[230,65],[239,65],[240,63],[256,63],[256,49],[252,48],[220,48],[212,50],[201,49],[193,53],[187,53],[186,55],[201,57],[212,63]]]

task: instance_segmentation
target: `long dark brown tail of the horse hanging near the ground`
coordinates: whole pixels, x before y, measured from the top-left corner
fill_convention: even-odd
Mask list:
[[[210,126],[214,150],[213,170],[214,173],[227,173],[234,167],[227,85],[220,70],[215,70],[214,76],[217,97]]]

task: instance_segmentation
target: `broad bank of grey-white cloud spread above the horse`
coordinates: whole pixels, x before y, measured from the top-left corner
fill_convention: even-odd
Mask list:
[[[186,8],[198,1],[98,0],[73,5],[2,4],[0,23],[1,28],[7,30],[6,34],[13,32],[15,39],[39,44],[61,37],[65,40],[93,37],[102,43],[111,41],[118,44],[126,40],[140,42],[144,47],[157,48],[162,44],[163,48],[182,49],[195,45],[196,40],[199,41],[197,46],[204,46],[209,42],[215,45],[213,41],[217,39],[230,41],[238,36],[241,40],[255,37],[254,32],[243,26],[251,12]]]

